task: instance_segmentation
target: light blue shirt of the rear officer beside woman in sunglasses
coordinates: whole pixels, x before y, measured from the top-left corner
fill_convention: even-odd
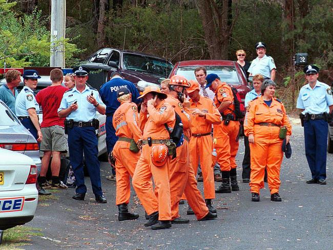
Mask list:
[[[263,77],[270,78],[270,71],[273,69],[276,69],[273,58],[264,55],[261,59],[259,59],[259,57],[254,59],[247,72],[251,73],[252,75],[262,74]]]

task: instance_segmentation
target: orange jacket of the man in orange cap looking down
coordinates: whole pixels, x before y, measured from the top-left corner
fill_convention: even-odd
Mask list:
[[[200,109],[201,112],[206,113],[206,117],[198,115],[192,116],[191,132],[193,134],[206,134],[212,131],[212,124],[219,124],[222,117],[217,108],[213,105],[210,98],[200,96],[198,102],[191,102],[191,109]]]

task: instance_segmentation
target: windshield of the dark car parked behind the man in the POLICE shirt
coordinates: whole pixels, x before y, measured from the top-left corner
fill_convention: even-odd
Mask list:
[[[168,77],[173,66],[167,60],[154,57],[123,53],[124,67],[128,70],[147,72],[150,74]]]

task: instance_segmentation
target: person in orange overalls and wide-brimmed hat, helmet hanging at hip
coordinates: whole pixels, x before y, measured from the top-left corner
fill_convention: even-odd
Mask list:
[[[149,86],[144,89],[139,98],[141,104],[139,127],[142,130],[142,153],[136,165],[132,180],[133,187],[144,210],[150,215],[145,226],[153,230],[171,227],[171,197],[170,197],[170,156],[165,143],[170,142],[169,128],[174,128],[175,111],[165,102],[167,95],[158,87]],[[151,182],[154,179],[156,197]],[[154,225],[158,222],[158,225]]]

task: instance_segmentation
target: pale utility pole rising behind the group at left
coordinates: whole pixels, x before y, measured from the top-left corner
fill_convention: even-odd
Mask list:
[[[50,67],[65,68],[66,0],[51,0],[51,56]]]

